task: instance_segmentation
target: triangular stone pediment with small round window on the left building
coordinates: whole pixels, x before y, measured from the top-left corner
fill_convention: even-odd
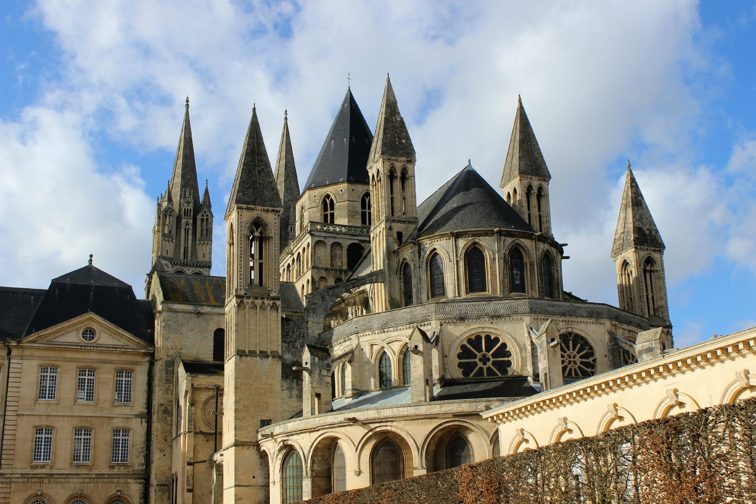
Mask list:
[[[91,341],[85,341],[85,329],[95,332]],[[91,338],[87,335],[86,338]],[[152,346],[95,313],[84,313],[73,319],[53,325],[19,340],[19,344],[76,345],[92,349],[150,350]]]

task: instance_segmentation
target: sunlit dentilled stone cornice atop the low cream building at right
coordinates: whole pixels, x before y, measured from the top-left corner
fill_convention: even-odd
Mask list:
[[[586,378],[564,387],[547,390],[508,403],[506,406],[490,409],[482,413],[489,422],[506,424],[557,409],[580,403],[583,400],[614,394],[619,390],[683,375],[696,369],[714,366],[719,362],[743,356],[756,355],[756,328],[729,334],[722,338],[711,338],[699,344],[674,350],[644,362],[624,366],[610,372]]]

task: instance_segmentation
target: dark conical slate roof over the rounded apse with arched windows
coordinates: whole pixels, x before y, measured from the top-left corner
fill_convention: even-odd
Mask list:
[[[417,207],[413,238],[464,229],[533,229],[468,162]]]

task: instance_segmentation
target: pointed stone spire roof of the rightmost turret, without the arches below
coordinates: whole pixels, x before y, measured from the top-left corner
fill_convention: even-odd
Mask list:
[[[624,179],[624,191],[619,207],[615,240],[612,244],[612,257],[616,257],[631,247],[643,247],[651,250],[665,249],[662,235],[656,229],[646,200],[640,192],[630,163],[627,163],[627,176]]]

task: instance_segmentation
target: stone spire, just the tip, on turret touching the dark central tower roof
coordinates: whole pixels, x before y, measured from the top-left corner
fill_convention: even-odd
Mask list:
[[[378,123],[370,147],[367,164],[373,164],[381,156],[404,157],[415,160],[415,148],[404,124],[404,118],[399,113],[399,104],[391,86],[391,79],[386,75],[386,87],[383,89],[383,101],[378,112]]]

